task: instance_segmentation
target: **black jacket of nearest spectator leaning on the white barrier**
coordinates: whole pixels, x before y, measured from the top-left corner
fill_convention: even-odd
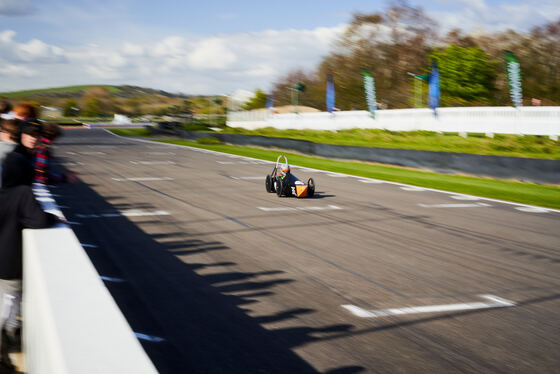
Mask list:
[[[22,277],[22,230],[55,222],[56,216],[41,209],[31,187],[0,189],[0,279]]]

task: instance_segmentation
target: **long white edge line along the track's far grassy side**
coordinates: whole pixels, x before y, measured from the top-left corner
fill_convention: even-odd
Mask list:
[[[127,137],[124,137],[124,136],[113,134],[111,131],[109,131],[107,129],[103,129],[103,130],[106,131],[107,133],[109,133],[110,135],[115,136],[117,138],[121,138],[123,140],[126,140],[127,142],[132,141],[132,142],[139,142],[139,143],[154,144],[153,140],[127,138]],[[225,156],[225,157],[228,157],[228,155],[229,155],[228,153],[225,153],[225,152],[210,151],[210,150],[205,150],[205,149],[203,150],[201,148],[189,147],[187,145],[169,144],[169,143],[160,143],[160,144],[165,144],[164,146],[160,146],[160,148],[173,147],[173,148],[176,148],[176,149],[188,149],[188,150],[193,151],[193,152],[205,152],[205,153],[213,154],[213,155],[216,155],[216,156]],[[149,145],[148,148],[157,148],[157,146]],[[265,160],[260,160],[260,159],[256,159],[256,158],[251,158],[251,157],[246,157],[246,158],[250,159],[250,160],[263,161],[263,162],[268,163],[268,164],[275,164],[274,161],[265,161]],[[292,166],[297,166],[297,165],[292,165]],[[323,173],[323,172],[325,172],[325,170],[320,170],[320,169],[313,169],[313,168],[308,168],[308,167],[302,167],[302,168],[305,169],[309,173]],[[364,178],[364,179],[366,178],[366,177],[357,177],[355,175],[350,175],[350,174],[346,174],[346,175],[348,175],[349,177],[354,177],[354,178]],[[383,181],[383,183],[392,184],[392,185],[395,185],[395,186],[414,187],[412,185],[399,183],[399,182]],[[447,195],[458,195],[457,192],[438,190],[436,188],[427,188],[426,187],[424,189],[426,191],[439,192],[439,193],[443,193],[443,194],[447,194]],[[474,195],[466,195],[466,194],[463,194],[463,195],[464,196],[474,196]],[[500,203],[500,204],[513,205],[513,206],[516,206],[516,207],[538,208],[535,205],[515,203],[515,202],[512,202],[512,201],[492,199],[492,198],[489,198],[489,197],[480,197],[480,196],[474,196],[474,197],[478,197],[479,199],[484,200],[484,201],[491,201],[491,202]],[[560,209],[550,208],[550,209],[548,209],[548,212],[560,213]]]

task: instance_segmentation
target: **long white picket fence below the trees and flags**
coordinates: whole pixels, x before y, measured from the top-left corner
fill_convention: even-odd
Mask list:
[[[227,125],[254,130],[277,129],[343,130],[351,128],[392,131],[427,130],[438,132],[560,135],[560,106],[543,107],[462,107],[378,110],[375,118],[364,110],[344,112],[273,114],[267,111],[230,112]]]

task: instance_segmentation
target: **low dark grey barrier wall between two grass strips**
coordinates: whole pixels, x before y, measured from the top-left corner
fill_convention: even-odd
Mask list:
[[[441,173],[466,173],[536,183],[560,183],[560,161],[535,158],[430,152],[410,149],[353,147],[313,143],[305,140],[242,134],[182,131],[187,139],[215,137],[224,143],[295,150],[325,158],[361,160],[428,169]]]

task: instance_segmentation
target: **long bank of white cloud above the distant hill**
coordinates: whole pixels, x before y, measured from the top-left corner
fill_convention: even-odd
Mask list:
[[[193,94],[266,90],[291,69],[314,68],[342,30],[343,26],[206,38],[171,35],[151,43],[81,46],[55,46],[38,39],[19,43],[15,32],[6,30],[0,32],[0,64],[19,68],[3,70],[3,83],[10,90],[89,83]],[[36,75],[26,79],[31,72]]]

